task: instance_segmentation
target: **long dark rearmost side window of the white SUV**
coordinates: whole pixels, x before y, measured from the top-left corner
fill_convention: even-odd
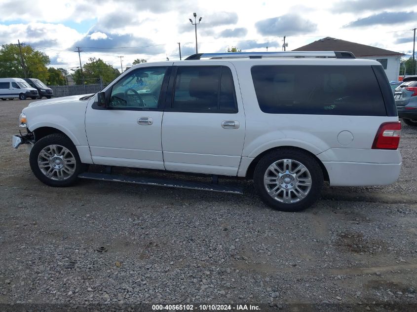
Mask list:
[[[370,66],[254,66],[251,72],[265,113],[386,116]]]

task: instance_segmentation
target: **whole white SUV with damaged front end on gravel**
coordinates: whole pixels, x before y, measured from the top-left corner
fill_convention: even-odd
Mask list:
[[[297,211],[330,185],[387,185],[401,125],[377,61],[350,52],[195,54],[144,63],[102,92],[23,109],[42,182],[78,177],[239,193],[215,183],[86,172],[86,164],[246,177],[272,208]]]

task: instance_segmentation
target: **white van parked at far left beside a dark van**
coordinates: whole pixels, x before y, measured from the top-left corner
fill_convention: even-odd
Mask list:
[[[35,100],[38,97],[38,90],[32,88],[25,80],[21,78],[0,78],[0,99],[13,100],[19,98],[26,100],[31,98]]]

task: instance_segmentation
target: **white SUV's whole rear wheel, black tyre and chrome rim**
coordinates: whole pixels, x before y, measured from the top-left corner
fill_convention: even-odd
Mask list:
[[[312,206],[323,188],[323,172],[310,154],[293,148],[267,153],[258,162],[254,186],[268,206],[301,211]]]

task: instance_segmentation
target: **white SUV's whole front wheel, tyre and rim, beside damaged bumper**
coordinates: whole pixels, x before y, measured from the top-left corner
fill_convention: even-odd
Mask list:
[[[84,169],[76,146],[62,134],[39,139],[31,149],[29,162],[35,176],[49,186],[74,184]]]

